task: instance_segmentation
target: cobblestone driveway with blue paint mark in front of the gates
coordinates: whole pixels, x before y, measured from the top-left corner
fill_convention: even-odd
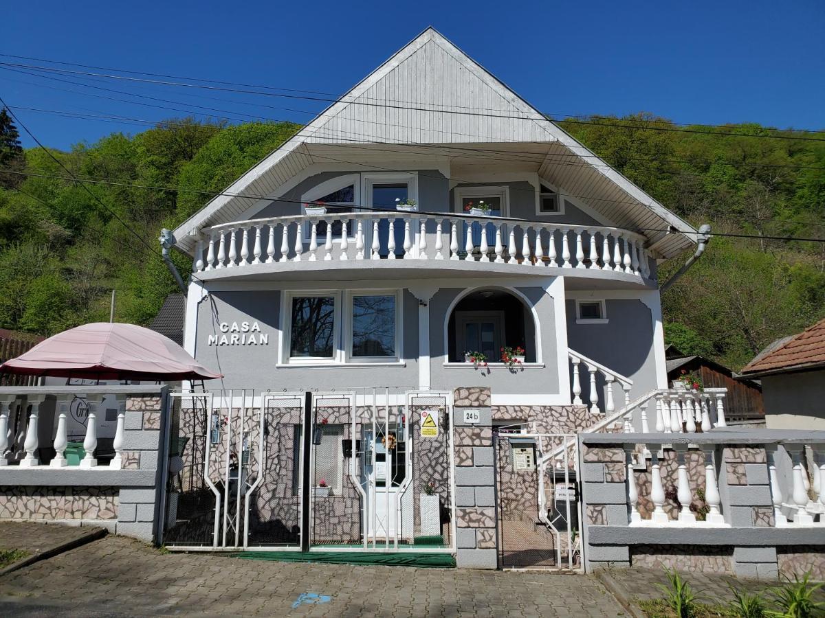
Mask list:
[[[0,616],[56,614],[622,616],[624,610],[586,575],[163,554],[108,536],[0,578]]]

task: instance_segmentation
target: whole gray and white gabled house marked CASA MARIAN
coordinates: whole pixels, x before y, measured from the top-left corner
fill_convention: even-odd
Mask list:
[[[657,265],[696,231],[428,29],[174,236],[184,346],[224,375],[181,395],[180,507],[232,497],[167,542],[436,538],[495,566],[494,508],[505,545],[548,517],[543,454],[646,426],[618,414],[667,389]],[[493,453],[512,433],[541,438]]]

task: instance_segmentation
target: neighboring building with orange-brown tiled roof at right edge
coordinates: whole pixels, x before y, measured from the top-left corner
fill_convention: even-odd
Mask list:
[[[825,429],[825,320],[777,339],[742,377],[761,381],[767,428]]]

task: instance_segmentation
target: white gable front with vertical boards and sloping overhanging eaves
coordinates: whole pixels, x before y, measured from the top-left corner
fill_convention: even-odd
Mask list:
[[[200,227],[243,219],[252,206],[266,204],[266,197],[280,197],[283,185],[306,167],[329,164],[325,145],[358,143],[544,144],[548,156],[537,171],[559,186],[562,194],[587,204],[620,227],[658,230],[672,226],[688,232],[643,232],[664,257],[695,242],[690,224],[544,119],[429,28],[236,180],[226,195],[217,196],[178,227],[175,234],[181,249],[194,250],[194,235]],[[399,146],[385,148],[398,150]]]

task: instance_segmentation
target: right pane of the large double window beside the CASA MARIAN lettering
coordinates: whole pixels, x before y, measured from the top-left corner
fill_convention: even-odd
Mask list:
[[[352,356],[395,356],[395,297],[352,298]]]

